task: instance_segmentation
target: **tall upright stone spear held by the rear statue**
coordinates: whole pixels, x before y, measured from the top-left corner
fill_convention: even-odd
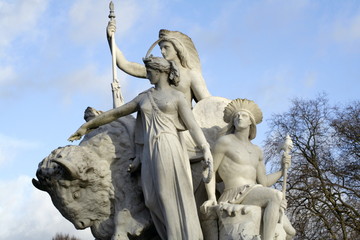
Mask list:
[[[109,4],[110,21],[115,23],[115,13],[114,13],[114,3],[110,1]],[[112,73],[113,73],[113,82],[111,83],[112,95],[113,95],[113,108],[120,107],[124,103],[123,96],[120,91],[119,81],[117,80],[117,69],[116,69],[116,45],[115,45],[115,34],[111,35],[111,55],[112,55]]]

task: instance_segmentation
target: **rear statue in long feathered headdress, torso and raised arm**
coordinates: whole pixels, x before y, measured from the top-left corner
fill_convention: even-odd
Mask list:
[[[115,30],[115,21],[109,21],[107,37],[110,47],[110,39]],[[159,44],[163,57],[174,61],[178,66],[181,81],[172,87],[182,92],[190,105],[193,99],[198,102],[211,96],[201,73],[199,55],[190,37],[178,31],[162,29],[156,43]],[[147,78],[144,65],[128,61],[122,51],[117,46],[115,48],[116,63],[122,71],[134,77]]]

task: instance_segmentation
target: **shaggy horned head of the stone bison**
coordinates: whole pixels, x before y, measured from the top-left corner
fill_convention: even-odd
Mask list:
[[[99,225],[113,213],[114,188],[109,163],[91,149],[58,148],[40,162],[33,179],[46,191],[61,214],[77,229]]]

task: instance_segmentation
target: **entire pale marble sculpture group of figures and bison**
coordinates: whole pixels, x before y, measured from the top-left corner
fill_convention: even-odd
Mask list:
[[[292,239],[285,192],[271,188],[286,176],[291,144],[280,170],[267,175],[251,143],[263,118],[258,105],[211,96],[194,43],[181,32],[160,30],[143,64],[128,61],[109,17],[114,67],[153,87],[106,112],[88,107],[69,137],[83,140],[41,161],[34,186],[99,240]],[[162,57],[151,54],[156,45]]]

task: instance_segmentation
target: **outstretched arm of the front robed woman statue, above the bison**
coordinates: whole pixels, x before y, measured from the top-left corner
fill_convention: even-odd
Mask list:
[[[89,122],[84,123],[74,134],[72,134],[68,138],[68,140],[69,141],[80,140],[82,136],[91,132],[92,130],[107,123],[110,123],[112,121],[115,121],[119,117],[129,115],[137,111],[137,109],[138,109],[138,97],[132,100],[131,102],[126,103],[125,105],[104,112],[96,116],[95,118],[91,119]]]

